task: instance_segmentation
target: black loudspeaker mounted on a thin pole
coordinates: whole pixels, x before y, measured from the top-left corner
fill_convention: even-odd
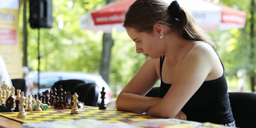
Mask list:
[[[52,0],[29,0],[29,23],[31,28],[51,28],[53,23]]]

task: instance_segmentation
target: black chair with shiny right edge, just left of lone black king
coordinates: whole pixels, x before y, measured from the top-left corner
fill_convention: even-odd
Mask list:
[[[99,86],[95,83],[82,83],[75,86],[72,95],[76,93],[78,100],[86,106],[97,106],[99,97]]]

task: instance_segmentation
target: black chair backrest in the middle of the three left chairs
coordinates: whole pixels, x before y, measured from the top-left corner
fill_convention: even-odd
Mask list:
[[[72,93],[75,86],[81,83],[85,83],[85,82],[82,80],[73,80],[73,79],[61,80],[61,81],[55,82],[54,85],[52,86],[52,89],[55,87],[58,90],[59,86],[61,85],[61,88],[63,89],[63,91],[66,91],[66,92],[69,91],[70,93]],[[56,93],[58,93],[58,91]]]

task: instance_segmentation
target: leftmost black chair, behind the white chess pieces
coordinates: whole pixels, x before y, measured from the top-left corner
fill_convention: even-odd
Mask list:
[[[25,79],[12,79],[12,85],[15,87],[15,90],[20,89],[24,91],[24,95],[26,96],[28,85],[26,84]],[[17,91],[15,91],[15,95],[17,95]]]

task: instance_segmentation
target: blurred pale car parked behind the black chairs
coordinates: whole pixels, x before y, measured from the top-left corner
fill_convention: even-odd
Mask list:
[[[42,71],[39,74],[39,89],[33,89],[33,94],[42,94],[45,90],[51,90],[55,82],[60,80],[82,80],[85,83],[95,83],[99,86],[99,91],[102,91],[102,87],[105,88],[105,103],[112,101],[113,93],[109,85],[102,79],[100,75],[82,73],[82,72],[63,72],[63,71]],[[27,76],[33,82],[34,86],[38,83],[38,71],[32,71]],[[58,89],[58,88],[56,88]],[[101,102],[101,94],[99,94],[98,104]]]

